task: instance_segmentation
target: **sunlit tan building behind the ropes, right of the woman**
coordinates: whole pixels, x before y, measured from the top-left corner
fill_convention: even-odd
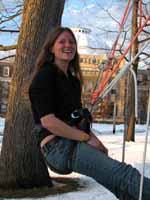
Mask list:
[[[106,57],[100,55],[80,55],[80,65],[84,77],[82,89],[82,103],[85,107],[90,105],[90,97],[93,92],[97,77],[102,72],[99,65],[104,65]],[[119,58],[119,57],[118,57]],[[125,65],[123,60],[120,68]],[[97,123],[113,123],[115,116],[116,124],[124,123],[124,106],[127,90],[127,74],[124,75],[112,90],[100,101],[93,112],[93,121]],[[148,88],[150,85],[150,69],[138,70],[138,119],[140,124],[146,123],[146,110]]]

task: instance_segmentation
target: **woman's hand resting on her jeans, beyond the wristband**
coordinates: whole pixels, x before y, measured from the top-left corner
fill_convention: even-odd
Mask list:
[[[87,144],[103,151],[105,154],[108,155],[108,149],[104,146],[104,144],[93,134],[90,134],[90,140],[87,141]]]

